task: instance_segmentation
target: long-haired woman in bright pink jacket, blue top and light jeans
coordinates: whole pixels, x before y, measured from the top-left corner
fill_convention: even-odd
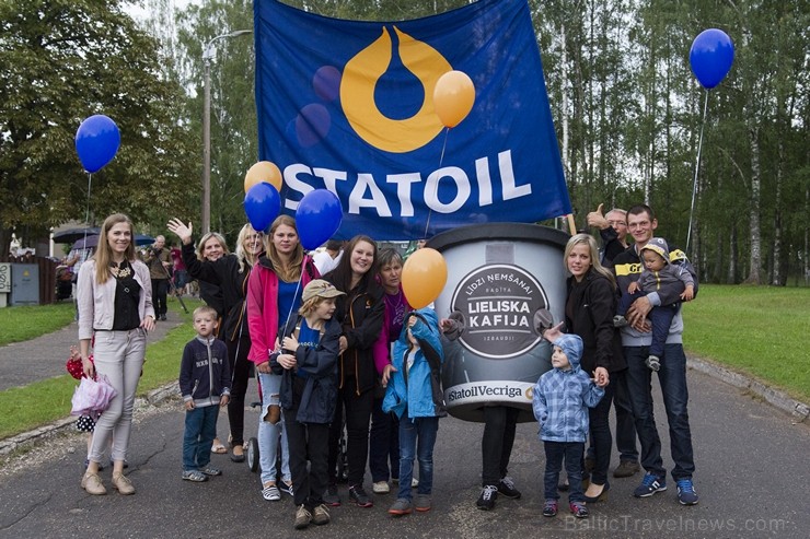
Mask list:
[[[262,495],[267,501],[281,499],[279,489],[292,495],[289,450],[279,391],[281,376],[270,371],[270,353],[277,350],[279,328],[298,316],[304,286],[319,276],[309,255],[304,255],[296,221],[279,215],[270,225],[265,256],[251,272],[247,281],[247,327],[251,351],[262,386],[262,414],[258,421],[258,456],[262,468]],[[277,484],[276,457],[281,436],[281,484]]]

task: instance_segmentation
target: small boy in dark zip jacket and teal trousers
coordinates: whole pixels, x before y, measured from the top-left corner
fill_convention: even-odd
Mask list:
[[[228,348],[217,339],[217,310],[204,305],[194,310],[197,337],[183,350],[180,390],[186,409],[183,436],[183,479],[201,482],[222,472],[212,466],[211,445],[217,435],[218,407],[228,406],[231,368]]]

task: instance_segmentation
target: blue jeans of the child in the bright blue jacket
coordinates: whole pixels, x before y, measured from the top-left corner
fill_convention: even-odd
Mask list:
[[[439,418],[400,418],[400,493],[410,500],[410,480],[414,477],[414,457],[419,459],[418,494],[433,490],[433,446],[439,432]]]

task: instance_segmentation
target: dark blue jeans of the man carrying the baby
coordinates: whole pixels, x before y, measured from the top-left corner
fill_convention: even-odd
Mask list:
[[[641,466],[650,473],[666,477],[661,459],[661,438],[656,429],[652,410],[652,371],[644,361],[649,355],[647,347],[624,347],[627,361],[627,387],[636,418],[636,431],[641,443]],[[675,467],[672,478],[691,479],[695,471],[692,450],[692,432],[688,419],[688,389],[686,387],[686,355],[683,344],[666,344],[661,358],[658,382],[663,395],[663,407],[670,430],[670,453]]]

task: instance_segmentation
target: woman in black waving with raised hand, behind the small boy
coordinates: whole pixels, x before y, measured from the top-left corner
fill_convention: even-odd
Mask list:
[[[231,400],[228,402],[228,422],[231,426],[231,460],[242,462],[244,455],[245,392],[251,377],[252,363],[247,360],[251,350],[251,336],[244,312],[247,278],[253,265],[264,251],[262,233],[246,224],[236,238],[236,253],[217,260],[199,260],[192,241],[192,223],[185,225],[180,219],[172,219],[166,225],[183,242],[183,261],[188,274],[194,279],[216,284],[222,291],[224,321],[219,338],[228,345],[231,363]]]

